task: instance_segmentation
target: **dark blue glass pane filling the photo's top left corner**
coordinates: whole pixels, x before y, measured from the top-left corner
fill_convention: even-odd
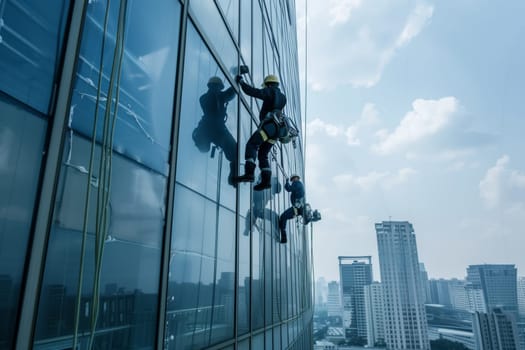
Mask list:
[[[70,1],[0,1],[0,90],[47,114]]]

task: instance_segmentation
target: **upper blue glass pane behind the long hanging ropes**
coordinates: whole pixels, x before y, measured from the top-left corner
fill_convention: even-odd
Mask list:
[[[109,9],[106,5],[106,1],[93,1],[87,8],[70,127],[91,137],[96,123],[100,141],[104,122],[114,118],[116,109],[115,150],[167,175],[180,5],[171,0],[129,1],[121,59],[114,57],[120,3],[112,1]]]

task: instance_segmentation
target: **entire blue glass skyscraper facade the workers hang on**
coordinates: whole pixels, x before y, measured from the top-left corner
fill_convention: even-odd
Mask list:
[[[228,181],[260,108],[243,64],[300,126],[292,0],[0,1],[0,348],[312,347],[310,232],[276,222],[301,142],[271,189]]]

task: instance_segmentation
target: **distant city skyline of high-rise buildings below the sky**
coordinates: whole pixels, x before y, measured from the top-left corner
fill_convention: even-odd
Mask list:
[[[410,222],[375,232],[380,282],[370,255],[339,256],[339,279],[316,279],[314,349],[525,349],[525,277],[515,265],[429,278]]]

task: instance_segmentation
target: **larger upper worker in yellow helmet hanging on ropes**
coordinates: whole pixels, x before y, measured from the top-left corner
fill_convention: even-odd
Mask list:
[[[262,191],[271,187],[272,169],[268,154],[279,136],[279,125],[276,114],[282,113],[286,105],[286,96],[279,90],[279,79],[270,74],[264,78],[263,88],[257,89],[243,81],[242,75],[237,75],[235,81],[241,85],[245,94],[263,101],[259,112],[259,127],[246,143],[244,175],[238,176],[238,182],[253,182],[255,177],[255,156],[259,160],[261,182],[253,187]]]

